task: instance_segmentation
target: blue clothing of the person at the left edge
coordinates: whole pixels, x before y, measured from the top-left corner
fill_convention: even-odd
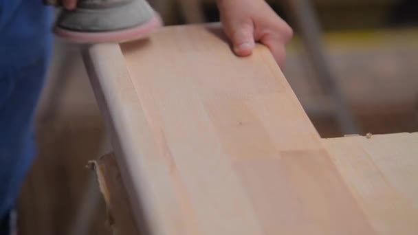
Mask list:
[[[0,218],[32,164],[32,121],[50,58],[52,13],[41,0],[0,0]]]

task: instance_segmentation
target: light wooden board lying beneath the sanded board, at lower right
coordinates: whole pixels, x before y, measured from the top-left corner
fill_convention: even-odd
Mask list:
[[[326,139],[379,234],[418,234],[418,133]]]

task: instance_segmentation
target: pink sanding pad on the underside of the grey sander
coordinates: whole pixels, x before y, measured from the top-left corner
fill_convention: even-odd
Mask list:
[[[54,33],[62,38],[76,43],[124,43],[146,37],[155,28],[162,26],[162,20],[158,14],[153,19],[126,30],[113,32],[76,32],[54,27]]]

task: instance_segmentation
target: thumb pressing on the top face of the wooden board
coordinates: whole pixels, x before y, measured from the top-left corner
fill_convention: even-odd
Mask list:
[[[254,49],[254,26],[252,23],[237,23],[232,25],[232,41],[234,52],[237,56],[249,56]]]

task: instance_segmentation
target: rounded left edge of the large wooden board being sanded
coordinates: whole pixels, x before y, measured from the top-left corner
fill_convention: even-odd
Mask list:
[[[146,126],[144,123],[146,119],[141,109],[129,111],[126,109],[126,104],[122,102],[122,100],[126,100],[126,97],[122,96],[136,98],[133,89],[124,87],[123,92],[113,92],[112,90],[115,87],[120,87],[119,85],[126,80],[130,80],[120,45],[115,43],[91,45],[83,49],[82,54],[91,87],[111,133],[111,143],[115,155],[118,156],[116,160],[120,166],[122,179],[126,186],[132,186],[126,188],[126,192],[129,202],[133,205],[137,229],[140,234],[165,234],[158,231],[161,226],[157,221],[161,216],[155,214],[157,210],[155,203],[152,202],[151,186],[144,180],[146,169],[135,170],[131,167],[133,164],[129,162],[130,155],[141,152],[133,149],[137,145],[132,143],[135,138],[132,137],[131,127],[128,124],[133,118],[135,122],[142,122]],[[144,128],[143,131],[146,132],[147,128]],[[131,135],[131,137],[124,137],[126,135]],[[124,141],[122,142],[121,139]],[[137,159],[141,159],[141,157],[137,157]],[[140,164],[140,166],[142,165],[144,164]],[[140,183],[134,183],[134,179]]]

